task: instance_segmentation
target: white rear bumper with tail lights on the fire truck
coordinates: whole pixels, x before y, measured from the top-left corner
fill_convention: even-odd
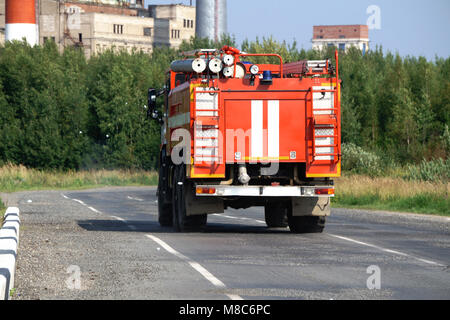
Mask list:
[[[229,186],[197,185],[197,196],[207,197],[334,197],[333,186]]]

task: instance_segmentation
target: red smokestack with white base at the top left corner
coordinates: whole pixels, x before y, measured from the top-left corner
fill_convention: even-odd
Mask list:
[[[6,0],[5,11],[5,40],[22,41],[25,38],[30,46],[37,45],[39,37],[35,0]]]

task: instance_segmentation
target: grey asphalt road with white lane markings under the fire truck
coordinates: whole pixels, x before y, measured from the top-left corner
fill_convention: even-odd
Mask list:
[[[295,235],[253,208],[174,233],[155,192],[3,194],[21,210],[13,299],[450,298],[449,218],[334,209]]]

